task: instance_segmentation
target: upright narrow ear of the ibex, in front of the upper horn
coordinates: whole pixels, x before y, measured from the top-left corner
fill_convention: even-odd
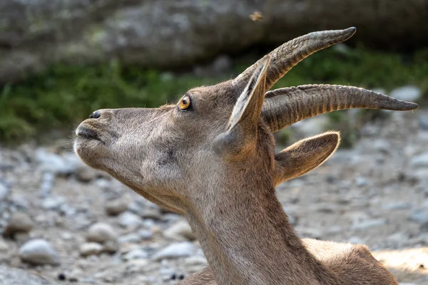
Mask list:
[[[255,138],[265,98],[266,71],[269,63],[270,56],[260,60],[258,68],[238,97],[228,124],[228,136],[231,138],[241,137],[244,140]]]

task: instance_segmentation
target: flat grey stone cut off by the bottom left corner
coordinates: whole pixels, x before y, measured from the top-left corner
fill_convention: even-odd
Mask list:
[[[0,284],[2,285],[58,285],[39,275],[13,267],[0,265]]]

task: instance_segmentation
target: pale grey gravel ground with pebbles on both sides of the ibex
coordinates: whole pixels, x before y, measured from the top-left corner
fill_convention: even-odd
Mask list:
[[[280,202],[302,237],[367,244],[400,283],[428,284],[428,113],[390,113],[361,134],[277,187]],[[65,145],[0,147],[0,265],[57,284],[127,285],[175,284],[206,266],[182,217]]]

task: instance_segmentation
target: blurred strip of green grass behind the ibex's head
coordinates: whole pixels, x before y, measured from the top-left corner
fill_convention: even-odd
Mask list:
[[[123,66],[51,66],[24,82],[0,90],[0,142],[18,142],[46,130],[71,129],[99,108],[156,107],[176,100],[189,88],[217,83],[238,74],[251,62],[217,78],[173,75]],[[384,88],[414,84],[428,93],[428,50],[412,56],[377,53],[363,48],[328,48],[306,58],[275,88],[307,83],[350,84]],[[336,120],[336,119],[335,119]]]

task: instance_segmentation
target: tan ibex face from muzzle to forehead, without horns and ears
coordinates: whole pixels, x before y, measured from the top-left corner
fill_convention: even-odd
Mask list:
[[[203,189],[225,168],[219,138],[238,95],[228,81],[189,90],[175,105],[97,110],[78,126],[75,150],[91,167],[183,212],[189,188]]]

